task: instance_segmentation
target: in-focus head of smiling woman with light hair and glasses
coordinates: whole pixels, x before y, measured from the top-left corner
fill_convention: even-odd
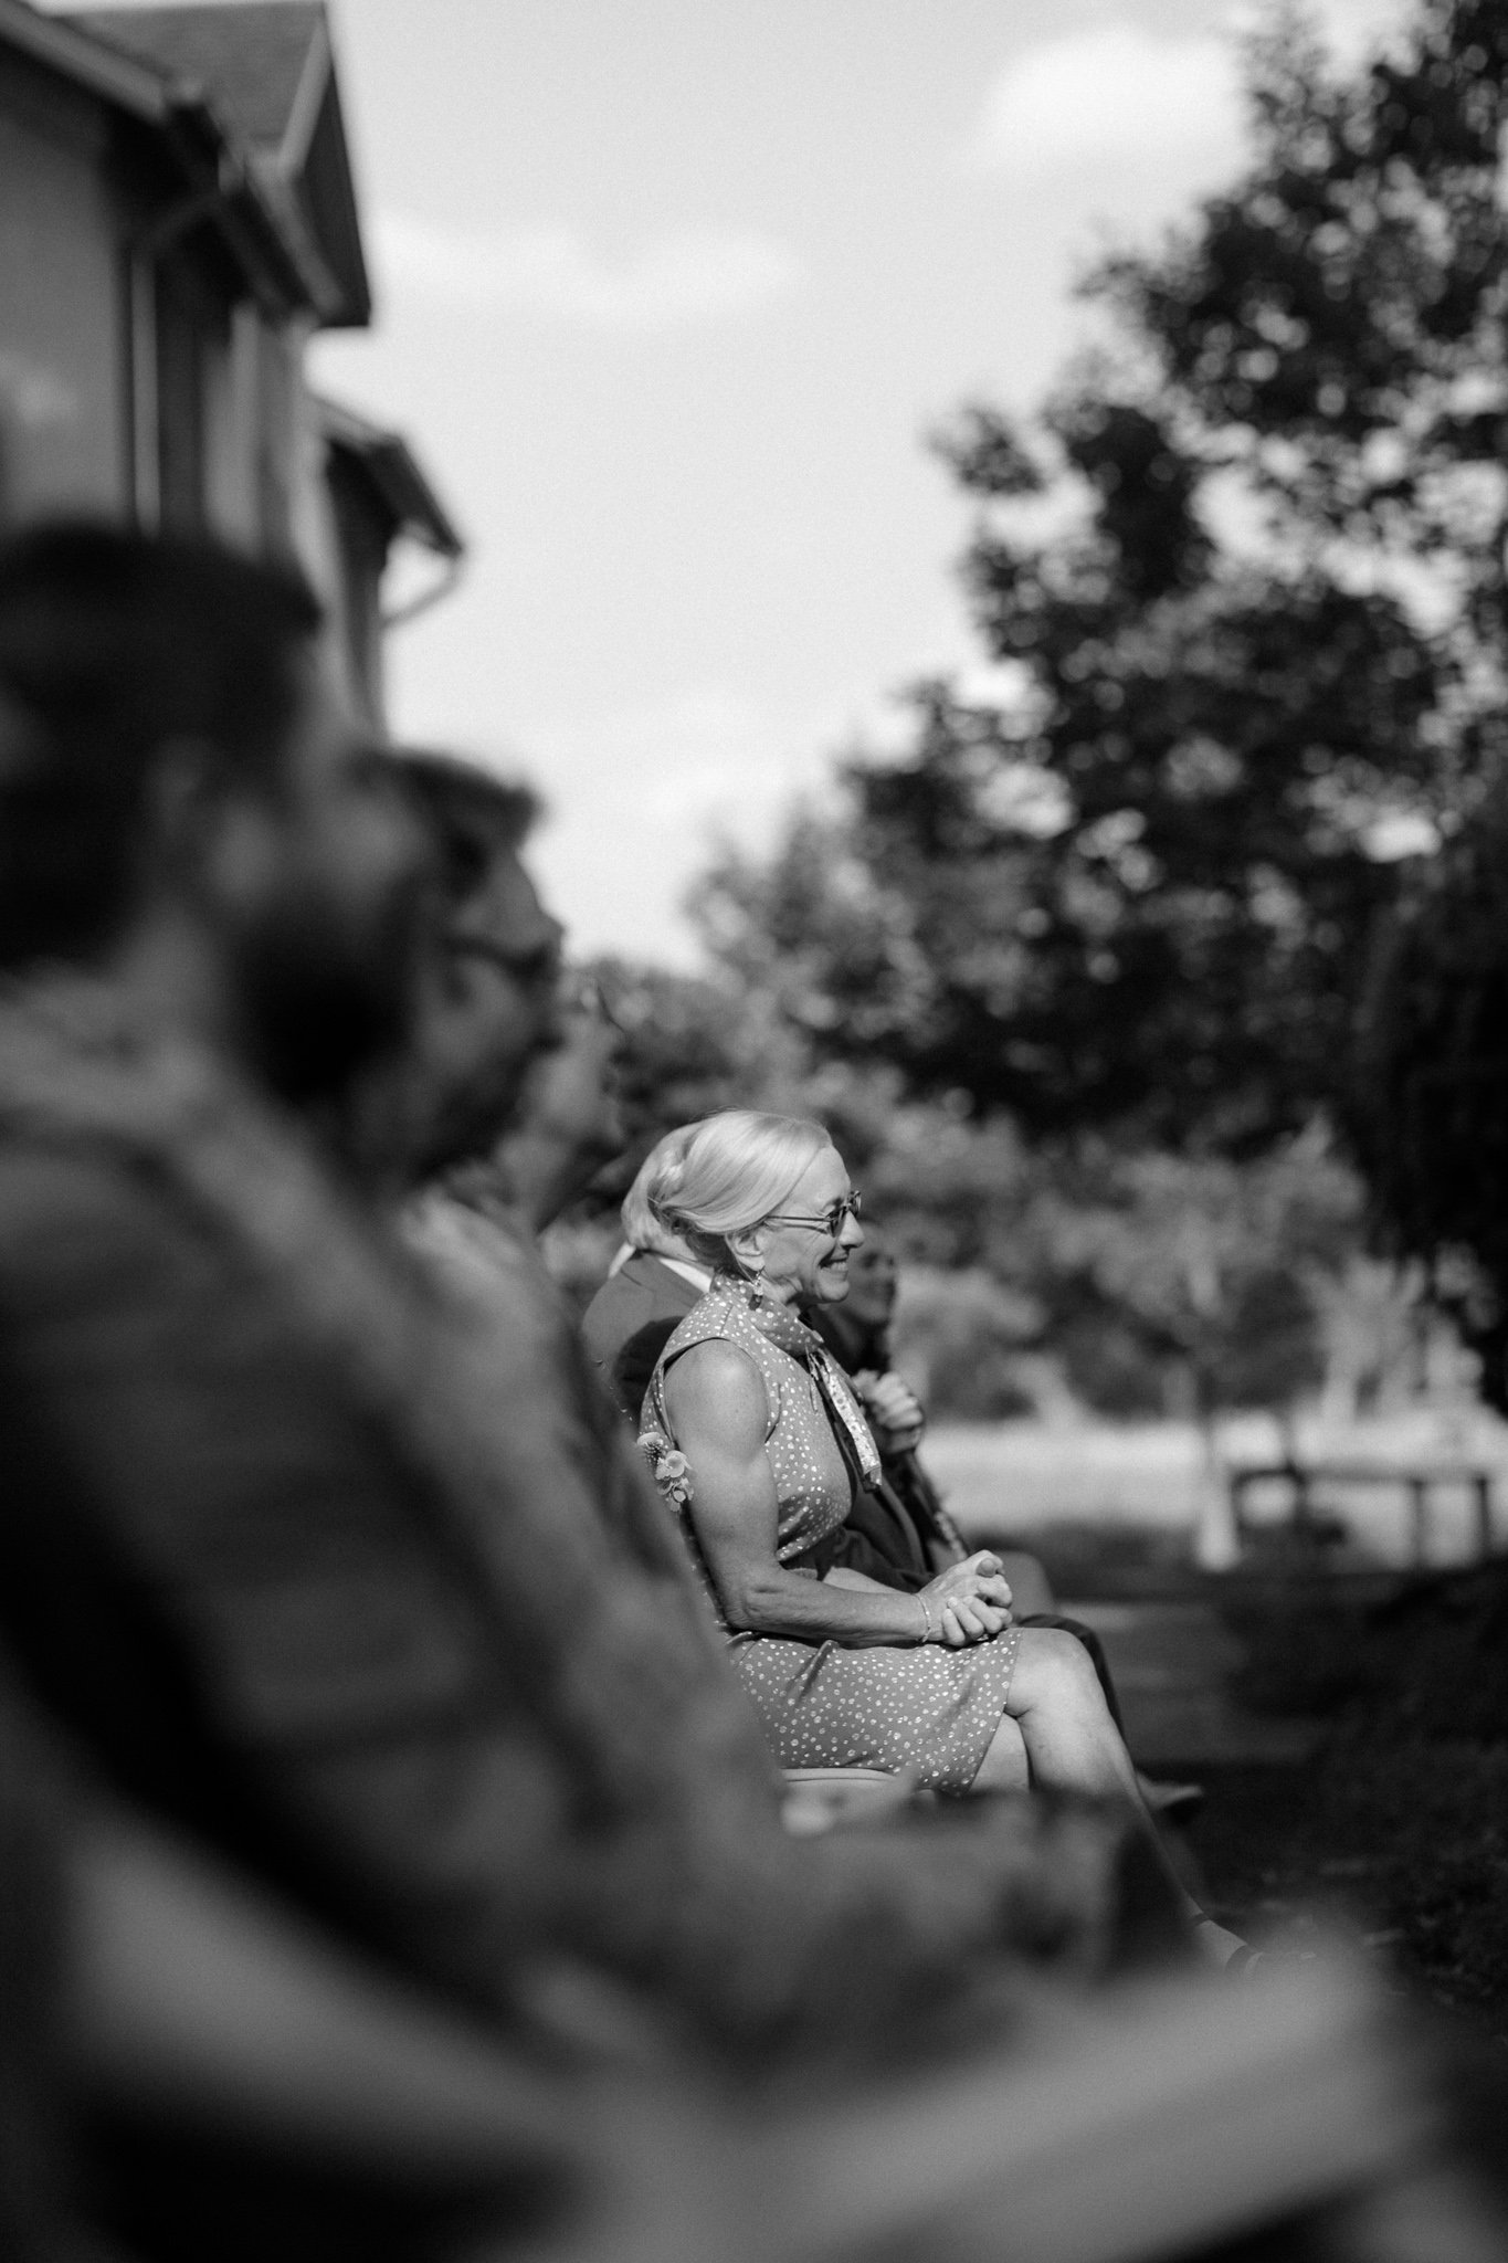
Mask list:
[[[708,1116],[667,1163],[651,1208],[703,1265],[733,1267],[787,1303],[843,1299],[848,1251],[864,1242],[843,1156],[803,1116]]]

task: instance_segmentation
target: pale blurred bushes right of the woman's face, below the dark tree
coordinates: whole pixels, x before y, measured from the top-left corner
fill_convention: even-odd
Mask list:
[[[859,1174],[920,1260],[902,1351],[938,1410],[1205,1421],[1307,1399],[1352,1419],[1409,1376],[1406,1292],[1318,1134],[1241,1161],[1026,1147],[911,1104]]]

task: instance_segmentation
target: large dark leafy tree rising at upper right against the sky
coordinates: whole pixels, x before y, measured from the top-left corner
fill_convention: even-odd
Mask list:
[[[1501,0],[1341,75],[1248,45],[1250,165],[1083,290],[1110,344],[941,439],[999,697],[699,896],[830,1055],[1033,1136],[1259,1154],[1334,1104],[1399,851],[1461,824],[1508,690]]]

